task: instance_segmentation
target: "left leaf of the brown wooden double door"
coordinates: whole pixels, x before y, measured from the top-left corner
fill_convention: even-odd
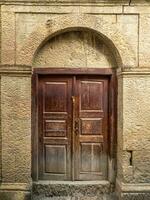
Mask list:
[[[39,177],[71,179],[72,78],[39,79]]]

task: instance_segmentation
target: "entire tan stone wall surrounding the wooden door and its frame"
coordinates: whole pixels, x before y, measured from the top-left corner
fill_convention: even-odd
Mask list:
[[[34,67],[117,69],[117,191],[124,199],[150,193],[149,1],[0,5],[0,195],[30,191]]]

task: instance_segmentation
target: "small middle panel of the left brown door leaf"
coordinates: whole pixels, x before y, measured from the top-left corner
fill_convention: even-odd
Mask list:
[[[66,129],[66,120],[45,120],[45,136],[65,137]]]

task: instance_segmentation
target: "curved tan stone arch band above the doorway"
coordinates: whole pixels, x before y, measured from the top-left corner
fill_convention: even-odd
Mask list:
[[[115,56],[118,67],[136,65],[136,55],[117,26],[100,16],[88,14],[68,14],[46,21],[30,34],[19,49],[17,64],[32,65],[36,53],[49,39],[73,30],[88,30],[97,33]]]

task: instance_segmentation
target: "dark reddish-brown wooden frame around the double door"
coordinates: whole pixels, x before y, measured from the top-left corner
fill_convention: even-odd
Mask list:
[[[117,152],[117,78],[111,68],[34,68],[32,75],[32,179],[38,181],[38,80],[40,75],[99,75],[109,79],[108,112],[108,152],[109,159],[115,161]],[[113,174],[116,173],[115,169]],[[115,180],[109,179],[110,182]]]

